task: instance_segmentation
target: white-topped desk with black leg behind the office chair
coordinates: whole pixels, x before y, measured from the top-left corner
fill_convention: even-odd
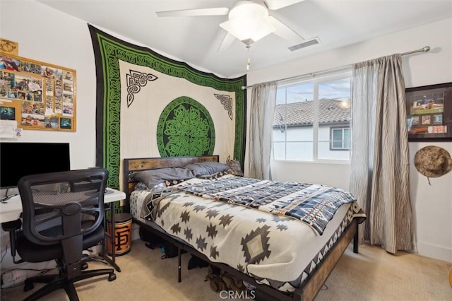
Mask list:
[[[124,192],[112,188],[107,188],[107,193],[105,193],[104,195],[104,203],[110,204],[114,201],[121,201],[123,199],[126,199],[126,194],[124,194]],[[110,209],[112,212],[112,233],[114,233],[114,208]],[[0,223],[17,220],[18,218],[20,218],[20,213],[22,213],[22,201],[20,200],[20,195],[13,196],[11,197],[11,199],[4,201],[4,203],[0,203]],[[107,231],[107,228],[105,228],[105,231]],[[108,248],[102,247],[102,257],[105,259],[105,261],[114,266],[114,268],[120,272],[121,269],[119,268],[119,266],[117,266],[117,264],[115,264],[114,260],[114,240],[112,240],[112,260],[107,257],[107,250],[105,249]]]

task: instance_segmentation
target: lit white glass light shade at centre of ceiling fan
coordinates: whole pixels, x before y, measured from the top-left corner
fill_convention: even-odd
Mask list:
[[[276,30],[268,19],[266,7],[252,1],[239,1],[230,10],[229,20],[220,23],[220,27],[240,41],[251,39],[253,42]]]

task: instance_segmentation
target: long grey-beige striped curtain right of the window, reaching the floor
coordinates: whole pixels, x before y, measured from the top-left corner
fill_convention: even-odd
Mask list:
[[[400,54],[355,64],[350,191],[367,220],[359,242],[417,252]]]

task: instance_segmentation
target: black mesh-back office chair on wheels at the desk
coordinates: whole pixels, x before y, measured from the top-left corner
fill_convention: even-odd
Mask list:
[[[2,225],[10,231],[11,254],[14,257],[17,250],[21,257],[20,261],[13,260],[18,263],[54,259],[59,268],[57,275],[27,278],[25,291],[31,290],[33,283],[48,284],[25,300],[37,300],[59,288],[66,290],[71,301],[78,300],[73,285],[76,281],[101,275],[108,275],[108,281],[116,279],[113,268],[82,271],[88,268],[90,260],[83,250],[105,243],[107,177],[107,170],[93,168],[29,175],[19,180],[22,229],[11,229],[17,221]]]

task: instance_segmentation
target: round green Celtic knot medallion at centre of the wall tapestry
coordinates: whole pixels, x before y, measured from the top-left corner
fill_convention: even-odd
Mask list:
[[[162,157],[213,155],[215,127],[206,107],[182,96],[169,102],[157,124]]]

